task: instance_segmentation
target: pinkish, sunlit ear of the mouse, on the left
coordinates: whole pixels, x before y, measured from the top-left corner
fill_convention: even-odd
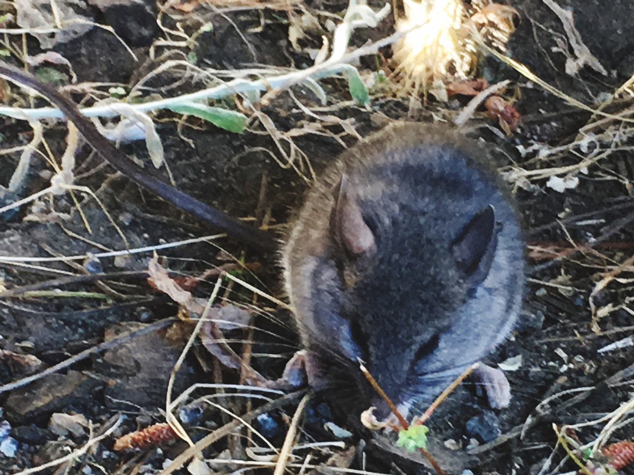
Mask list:
[[[330,228],[335,242],[349,255],[359,257],[375,248],[374,234],[361,214],[356,197],[350,193],[346,174],[333,189],[335,205]]]

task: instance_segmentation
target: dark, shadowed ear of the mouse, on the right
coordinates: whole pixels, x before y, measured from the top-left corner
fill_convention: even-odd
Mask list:
[[[471,286],[481,284],[488,276],[497,242],[495,209],[489,205],[476,213],[451,243],[456,265]]]

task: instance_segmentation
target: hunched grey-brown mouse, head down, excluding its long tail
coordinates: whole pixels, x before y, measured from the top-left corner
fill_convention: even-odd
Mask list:
[[[397,122],[349,148],[307,193],[282,250],[314,388],[338,402],[425,409],[512,330],[524,291],[519,213],[491,150]],[[474,376],[510,401],[500,369]]]

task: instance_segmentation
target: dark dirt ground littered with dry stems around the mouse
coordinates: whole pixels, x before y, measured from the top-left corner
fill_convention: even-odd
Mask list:
[[[49,80],[64,85],[74,99],[91,103],[107,98],[110,87],[121,85],[129,91],[166,61],[181,63],[148,80],[144,94],[176,96],[216,84],[191,69],[187,72],[186,61],[216,72],[262,65],[306,68],[313,62],[307,51],[321,46],[320,35],[312,33],[299,39],[301,47],[295,50],[288,39],[290,3],[275,8],[266,3],[257,4],[258,8],[252,4],[240,7],[243,3],[233,1],[212,3],[214,6],[201,4],[192,13],[171,9],[161,14],[163,27],[172,32],[168,35],[157,23],[159,9],[154,3],[131,0],[105,6],[96,0],[79,2],[78,11],[112,27],[120,39],[112,31],[94,27],[53,46],[72,66],[77,75],[74,83],[64,65],[37,67]],[[507,54],[570,98],[597,108],[634,73],[634,0],[558,2],[573,12],[581,44],[597,58],[605,74],[588,65],[572,74],[566,72],[566,61],[570,63],[576,52],[549,3],[512,2],[520,21]],[[300,4],[294,5],[300,11]],[[378,9],[382,3],[370,5]],[[320,11],[317,16],[324,22],[330,18],[335,23],[346,6],[339,0],[301,4],[308,11]],[[13,11],[12,6],[2,8]],[[212,28],[201,32],[195,42],[160,44],[168,36],[176,38],[175,31],[191,35],[206,23]],[[362,46],[377,41],[391,34],[392,27],[388,16],[377,28],[354,32],[352,43]],[[5,35],[3,44],[6,50],[10,45],[11,51],[27,51],[30,56],[44,51],[32,35]],[[377,70],[384,56],[389,56],[389,48],[378,56],[361,58],[359,71]],[[5,59],[22,65],[15,57]],[[51,70],[56,75],[51,76]],[[493,363],[506,363],[513,398],[508,409],[494,412],[486,409],[467,381],[430,420],[429,451],[448,472],[573,473],[579,467],[557,441],[556,430],[564,424],[591,422],[567,431],[567,444],[573,449],[575,441],[586,445],[604,436],[606,446],[634,440],[631,339],[627,345],[634,333],[634,127],[613,116],[593,115],[495,58],[484,59],[481,75],[489,84],[511,80],[507,97],[515,94],[515,108],[522,117],[519,129],[510,136],[480,110],[471,120],[471,135],[495,146],[500,171],[514,186],[526,227],[529,282],[524,310],[512,336],[490,358]],[[259,109],[260,118],[251,120],[242,134],[191,117],[182,123],[170,111],[157,113],[157,132],[176,186],[232,216],[278,228],[287,222],[309,186],[311,168],[307,164],[318,175],[344,146],[356,141],[353,130],[366,136],[388,117],[423,122],[433,117],[451,119],[469,100],[430,100],[423,105],[371,90],[372,100],[366,107],[351,99],[343,79],[324,79],[320,84],[327,105],[319,105],[311,91],[299,86],[292,89],[292,95],[269,94]],[[0,89],[4,103],[20,105],[22,100],[22,105],[29,105],[15,85],[2,81]],[[631,88],[619,94],[604,111],[631,117],[632,94]],[[300,103],[313,115],[300,108]],[[224,104],[235,109],[237,103],[230,98]],[[34,105],[44,106],[45,101],[37,100]],[[27,121],[6,117],[0,121],[3,149],[32,140],[33,129]],[[579,130],[584,127],[581,136]],[[271,134],[273,128],[281,137],[278,142]],[[44,121],[46,148],[40,147],[44,154],[34,156],[20,189],[0,194],[0,207],[49,186],[52,168],[45,157],[50,152],[59,160],[66,136],[63,122]],[[122,148],[151,166],[143,141]],[[285,156],[293,150],[296,161],[290,167]],[[9,185],[19,158],[20,151],[3,154],[3,187]],[[165,168],[162,174],[169,179]],[[571,178],[563,182],[551,179],[567,176]],[[75,184],[94,191],[103,208],[88,194],[76,191],[84,217],[68,193],[43,196],[36,205],[0,215],[0,255],[41,259],[0,260],[0,472],[14,474],[67,457],[40,473],[159,474],[168,460],[186,450],[185,441],[149,442],[143,449],[129,451],[117,451],[113,445],[124,434],[165,422],[170,375],[193,324],[179,319],[183,317],[179,305],[148,284],[152,251],[88,261],[44,259],[125,250],[126,243],[104,209],[119,226],[129,249],[178,243],[212,235],[214,230],[142,191],[126,177],[115,175],[109,166],[101,166],[88,146],[77,154],[75,177]],[[569,187],[556,189],[562,183]],[[573,252],[575,248],[581,250]],[[217,273],[206,271],[218,266],[233,270],[235,276],[271,296],[285,298],[275,255],[259,255],[224,238],[157,252],[170,276],[180,278],[178,282],[197,298],[209,297]],[[200,279],[186,281],[184,277]],[[262,376],[280,377],[285,362],[298,348],[290,314],[228,279],[219,296],[251,309],[249,328],[227,334],[235,351],[252,358],[252,366]],[[136,333],[126,336],[131,331]],[[180,365],[171,388],[172,400],[196,383],[247,382],[244,373],[221,365],[210,354],[213,348],[205,348],[200,341],[195,341]],[[615,342],[623,342],[623,348],[608,346]],[[77,358],[65,364],[72,357]],[[11,386],[46,369],[51,371],[28,384]],[[202,396],[211,395],[207,402],[217,402],[235,414],[247,414],[261,403],[263,393],[252,392],[259,398],[245,397],[249,391],[243,388],[200,388],[174,414],[196,442],[234,420],[205,403]],[[272,471],[272,452],[261,448],[267,446],[254,430],[281,447],[297,403],[295,398],[283,409],[249,419],[252,429],[234,431],[205,448],[204,457],[213,472]],[[297,448],[292,460],[296,465],[288,471],[299,472],[305,463],[304,471],[325,473],[333,470],[326,465],[335,467],[335,472],[433,472],[417,463],[422,457],[396,450],[393,441],[325,428],[333,423],[345,426],[336,412],[319,398],[313,399],[302,419],[298,442],[308,446]],[[105,433],[121,416],[113,433],[86,450],[73,452],[81,450],[89,437]],[[610,421],[612,416],[615,419]],[[474,429],[477,422],[482,424]],[[320,464],[324,465],[313,468]],[[189,472],[205,473],[196,470],[190,466]],[[634,473],[631,467],[621,469],[628,470]],[[183,466],[176,473],[188,471]]]

